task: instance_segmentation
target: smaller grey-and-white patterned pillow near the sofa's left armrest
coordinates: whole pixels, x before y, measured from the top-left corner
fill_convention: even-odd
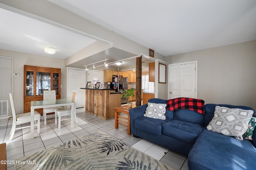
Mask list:
[[[165,120],[166,104],[162,103],[149,103],[144,113],[144,117]]]

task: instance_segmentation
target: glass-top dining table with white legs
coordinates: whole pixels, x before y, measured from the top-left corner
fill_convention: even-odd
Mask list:
[[[31,138],[34,138],[34,111],[35,109],[48,108],[48,107],[58,107],[58,106],[71,106],[71,128],[74,128],[74,102],[68,99],[56,99],[56,100],[41,100],[41,101],[31,101],[30,103],[30,113],[31,113]]]

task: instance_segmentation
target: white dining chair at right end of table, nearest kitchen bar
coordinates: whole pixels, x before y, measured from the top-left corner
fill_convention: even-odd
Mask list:
[[[76,119],[76,91],[72,92],[72,102],[74,102],[74,117],[76,124],[78,124]],[[57,125],[57,117],[58,117],[58,128],[60,128],[60,122],[66,119],[62,119],[61,117],[71,115],[71,107],[70,108],[62,108],[62,109],[55,109],[55,125]]]

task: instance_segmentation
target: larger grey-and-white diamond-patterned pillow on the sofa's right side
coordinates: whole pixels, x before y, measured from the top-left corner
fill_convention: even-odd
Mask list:
[[[252,110],[216,106],[214,117],[207,129],[243,140],[242,135],[248,128],[252,114]]]

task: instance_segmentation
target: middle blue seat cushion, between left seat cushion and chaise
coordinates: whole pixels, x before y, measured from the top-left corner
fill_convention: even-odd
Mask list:
[[[164,123],[162,128],[163,134],[189,144],[194,144],[203,127],[198,124],[173,119]]]

